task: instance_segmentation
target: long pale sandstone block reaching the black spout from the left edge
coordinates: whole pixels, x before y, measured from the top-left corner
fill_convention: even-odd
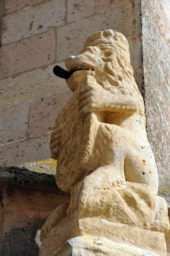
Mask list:
[[[65,68],[64,62],[57,64]],[[0,108],[67,89],[65,80],[53,74],[53,67],[54,65],[50,65],[45,69],[36,69],[15,78],[1,80]]]

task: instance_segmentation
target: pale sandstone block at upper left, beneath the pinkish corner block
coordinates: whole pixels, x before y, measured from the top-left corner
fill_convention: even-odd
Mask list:
[[[2,44],[15,42],[63,25],[65,11],[65,1],[50,0],[24,11],[6,15],[3,19]]]

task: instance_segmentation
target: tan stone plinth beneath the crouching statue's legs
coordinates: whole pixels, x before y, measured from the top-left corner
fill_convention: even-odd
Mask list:
[[[93,245],[94,248],[96,247],[95,243],[99,245],[99,242],[92,242],[94,241],[100,241],[100,239],[104,239],[103,243],[105,241],[109,241],[109,243],[113,244],[124,244],[121,245],[125,248],[138,248],[140,251],[148,251],[150,254],[143,254],[148,256],[166,256],[166,242],[164,238],[164,234],[157,231],[152,230],[146,230],[139,227],[129,226],[127,224],[120,224],[113,221],[108,221],[104,218],[99,217],[92,217],[92,218],[82,218],[82,219],[68,219],[64,222],[62,222],[57,227],[54,227],[51,230],[50,235],[42,241],[41,248],[40,248],[40,256],[46,256],[46,255],[62,255],[62,256],[69,256],[69,255],[93,255],[93,254],[83,254],[83,252],[87,249],[85,247],[81,247],[82,254],[74,254],[73,248],[71,247],[70,243],[68,241],[79,241],[78,244],[81,244],[82,242],[80,238],[88,238],[87,243],[85,240],[83,240],[83,244],[88,244],[88,248]],[[77,240],[77,239],[80,240]],[[96,240],[94,238],[97,238]],[[73,239],[73,240],[72,240]],[[105,240],[106,239],[106,240]],[[109,244],[106,243],[106,244]],[[84,245],[83,245],[84,246]],[[108,245],[107,245],[108,246]],[[66,249],[65,249],[66,248]],[[70,248],[70,249],[69,249]],[[75,248],[78,248],[77,245]],[[107,248],[107,247],[106,247]],[[109,247],[108,247],[109,248]],[[111,247],[112,248],[112,247]],[[114,248],[114,247],[113,247]],[[69,250],[70,251],[69,251]],[[65,254],[62,252],[60,254],[54,254],[54,252],[59,253],[59,250],[66,250]],[[67,251],[68,250],[68,251]],[[75,249],[78,250],[78,249]],[[88,249],[89,253],[91,253],[93,250]],[[102,249],[104,250],[104,249]],[[107,249],[108,250],[108,249]],[[109,249],[110,250],[110,249]],[[117,250],[117,249],[116,249]],[[129,249],[128,249],[129,250]],[[127,250],[127,252],[128,252]],[[136,249],[137,250],[137,249]],[[142,255],[142,254],[127,254],[125,251],[125,254],[113,254],[113,252],[110,252],[108,254],[104,254],[104,251],[101,251],[103,255]],[[93,252],[94,253],[94,252]],[[99,254],[95,255],[102,255],[99,251]]]

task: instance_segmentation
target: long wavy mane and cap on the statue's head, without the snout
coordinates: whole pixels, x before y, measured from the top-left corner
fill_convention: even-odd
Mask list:
[[[102,75],[95,76],[98,84],[107,90],[108,87],[123,86],[129,92],[135,91],[139,97],[139,113],[144,115],[144,104],[130,64],[129,45],[122,33],[111,29],[96,32],[89,36],[86,47],[98,47],[100,49],[100,61],[103,62]],[[96,71],[97,73],[97,71]]]

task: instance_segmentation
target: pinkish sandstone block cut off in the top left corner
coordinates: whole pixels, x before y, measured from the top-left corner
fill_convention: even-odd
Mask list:
[[[5,0],[4,1],[4,13],[8,14],[19,9],[27,9],[29,6],[36,5],[38,3],[42,3],[44,0]]]

